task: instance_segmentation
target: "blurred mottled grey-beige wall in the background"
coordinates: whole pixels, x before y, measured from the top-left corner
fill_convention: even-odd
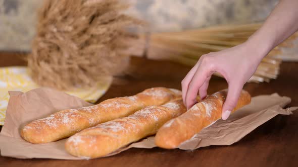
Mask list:
[[[264,20],[277,0],[127,0],[152,31]],[[0,0],[0,50],[30,51],[41,0]]]

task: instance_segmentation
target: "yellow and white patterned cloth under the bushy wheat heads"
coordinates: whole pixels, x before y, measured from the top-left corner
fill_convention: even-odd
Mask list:
[[[105,78],[90,89],[77,89],[67,94],[79,97],[87,102],[95,103],[109,89],[112,77]],[[0,125],[4,125],[6,109],[9,101],[8,91],[27,92],[39,88],[28,75],[27,67],[13,66],[0,68]]]

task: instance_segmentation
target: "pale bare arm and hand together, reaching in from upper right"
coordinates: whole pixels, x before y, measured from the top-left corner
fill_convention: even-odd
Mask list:
[[[298,0],[282,0],[262,27],[246,42],[235,47],[203,55],[181,82],[182,98],[189,109],[197,93],[207,96],[209,80],[221,73],[228,83],[228,95],[222,109],[226,120],[236,106],[240,92],[254,74],[261,60],[278,44],[298,30]]]

